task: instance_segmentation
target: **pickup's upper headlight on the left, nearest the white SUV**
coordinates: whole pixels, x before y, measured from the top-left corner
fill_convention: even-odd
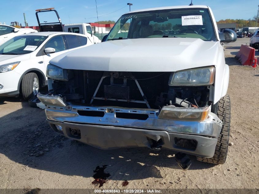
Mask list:
[[[52,64],[48,64],[46,76],[51,79],[68,81],[67,69],[62,69]]]

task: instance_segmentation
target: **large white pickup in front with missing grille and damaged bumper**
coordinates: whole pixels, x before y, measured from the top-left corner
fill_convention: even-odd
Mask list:
[[[101,149],[149,147],[223,164],[230,132],[229,67],[208,6],[122,15],[102,44],[52,59],[46,106],[54,131]]]

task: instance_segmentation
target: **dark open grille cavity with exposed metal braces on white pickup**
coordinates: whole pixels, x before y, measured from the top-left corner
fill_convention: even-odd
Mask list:
[[[68,81],[53,81],[49,94],[85,105],[126,108],[209,105],[207,86],[169,86],[170,72],[69,70]]]

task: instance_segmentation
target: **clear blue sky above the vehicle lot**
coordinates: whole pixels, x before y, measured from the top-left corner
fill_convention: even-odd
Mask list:
[[[191,0],[96,0],[96,2],[99,21],[117,21],[122,14],[129,11],[127,3],[133,4],[131,11],[134,11],[151,7],[189,5]],[[256,0],[193,0],[192,3],[210,6],[216,21],[252,19],[257,15],[259,4]],[[58,11],[63,24],[97,21],[95,0],[0,0],[0,22],[10,25],[11,21],[18,21],[24,26],[23,13],[25,13],[29,26],[35,26],[38,25],[35,10],[49,7],[54,7]],[[40,15],[40,21],[56,21],[55,15],[51,13]]]

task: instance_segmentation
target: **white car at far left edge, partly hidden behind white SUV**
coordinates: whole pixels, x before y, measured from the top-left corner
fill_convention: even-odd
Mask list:
[[[0,25],[0,45],[15,36],[32,32],[38,31],[31,28],[15,28],[9,25]]]

